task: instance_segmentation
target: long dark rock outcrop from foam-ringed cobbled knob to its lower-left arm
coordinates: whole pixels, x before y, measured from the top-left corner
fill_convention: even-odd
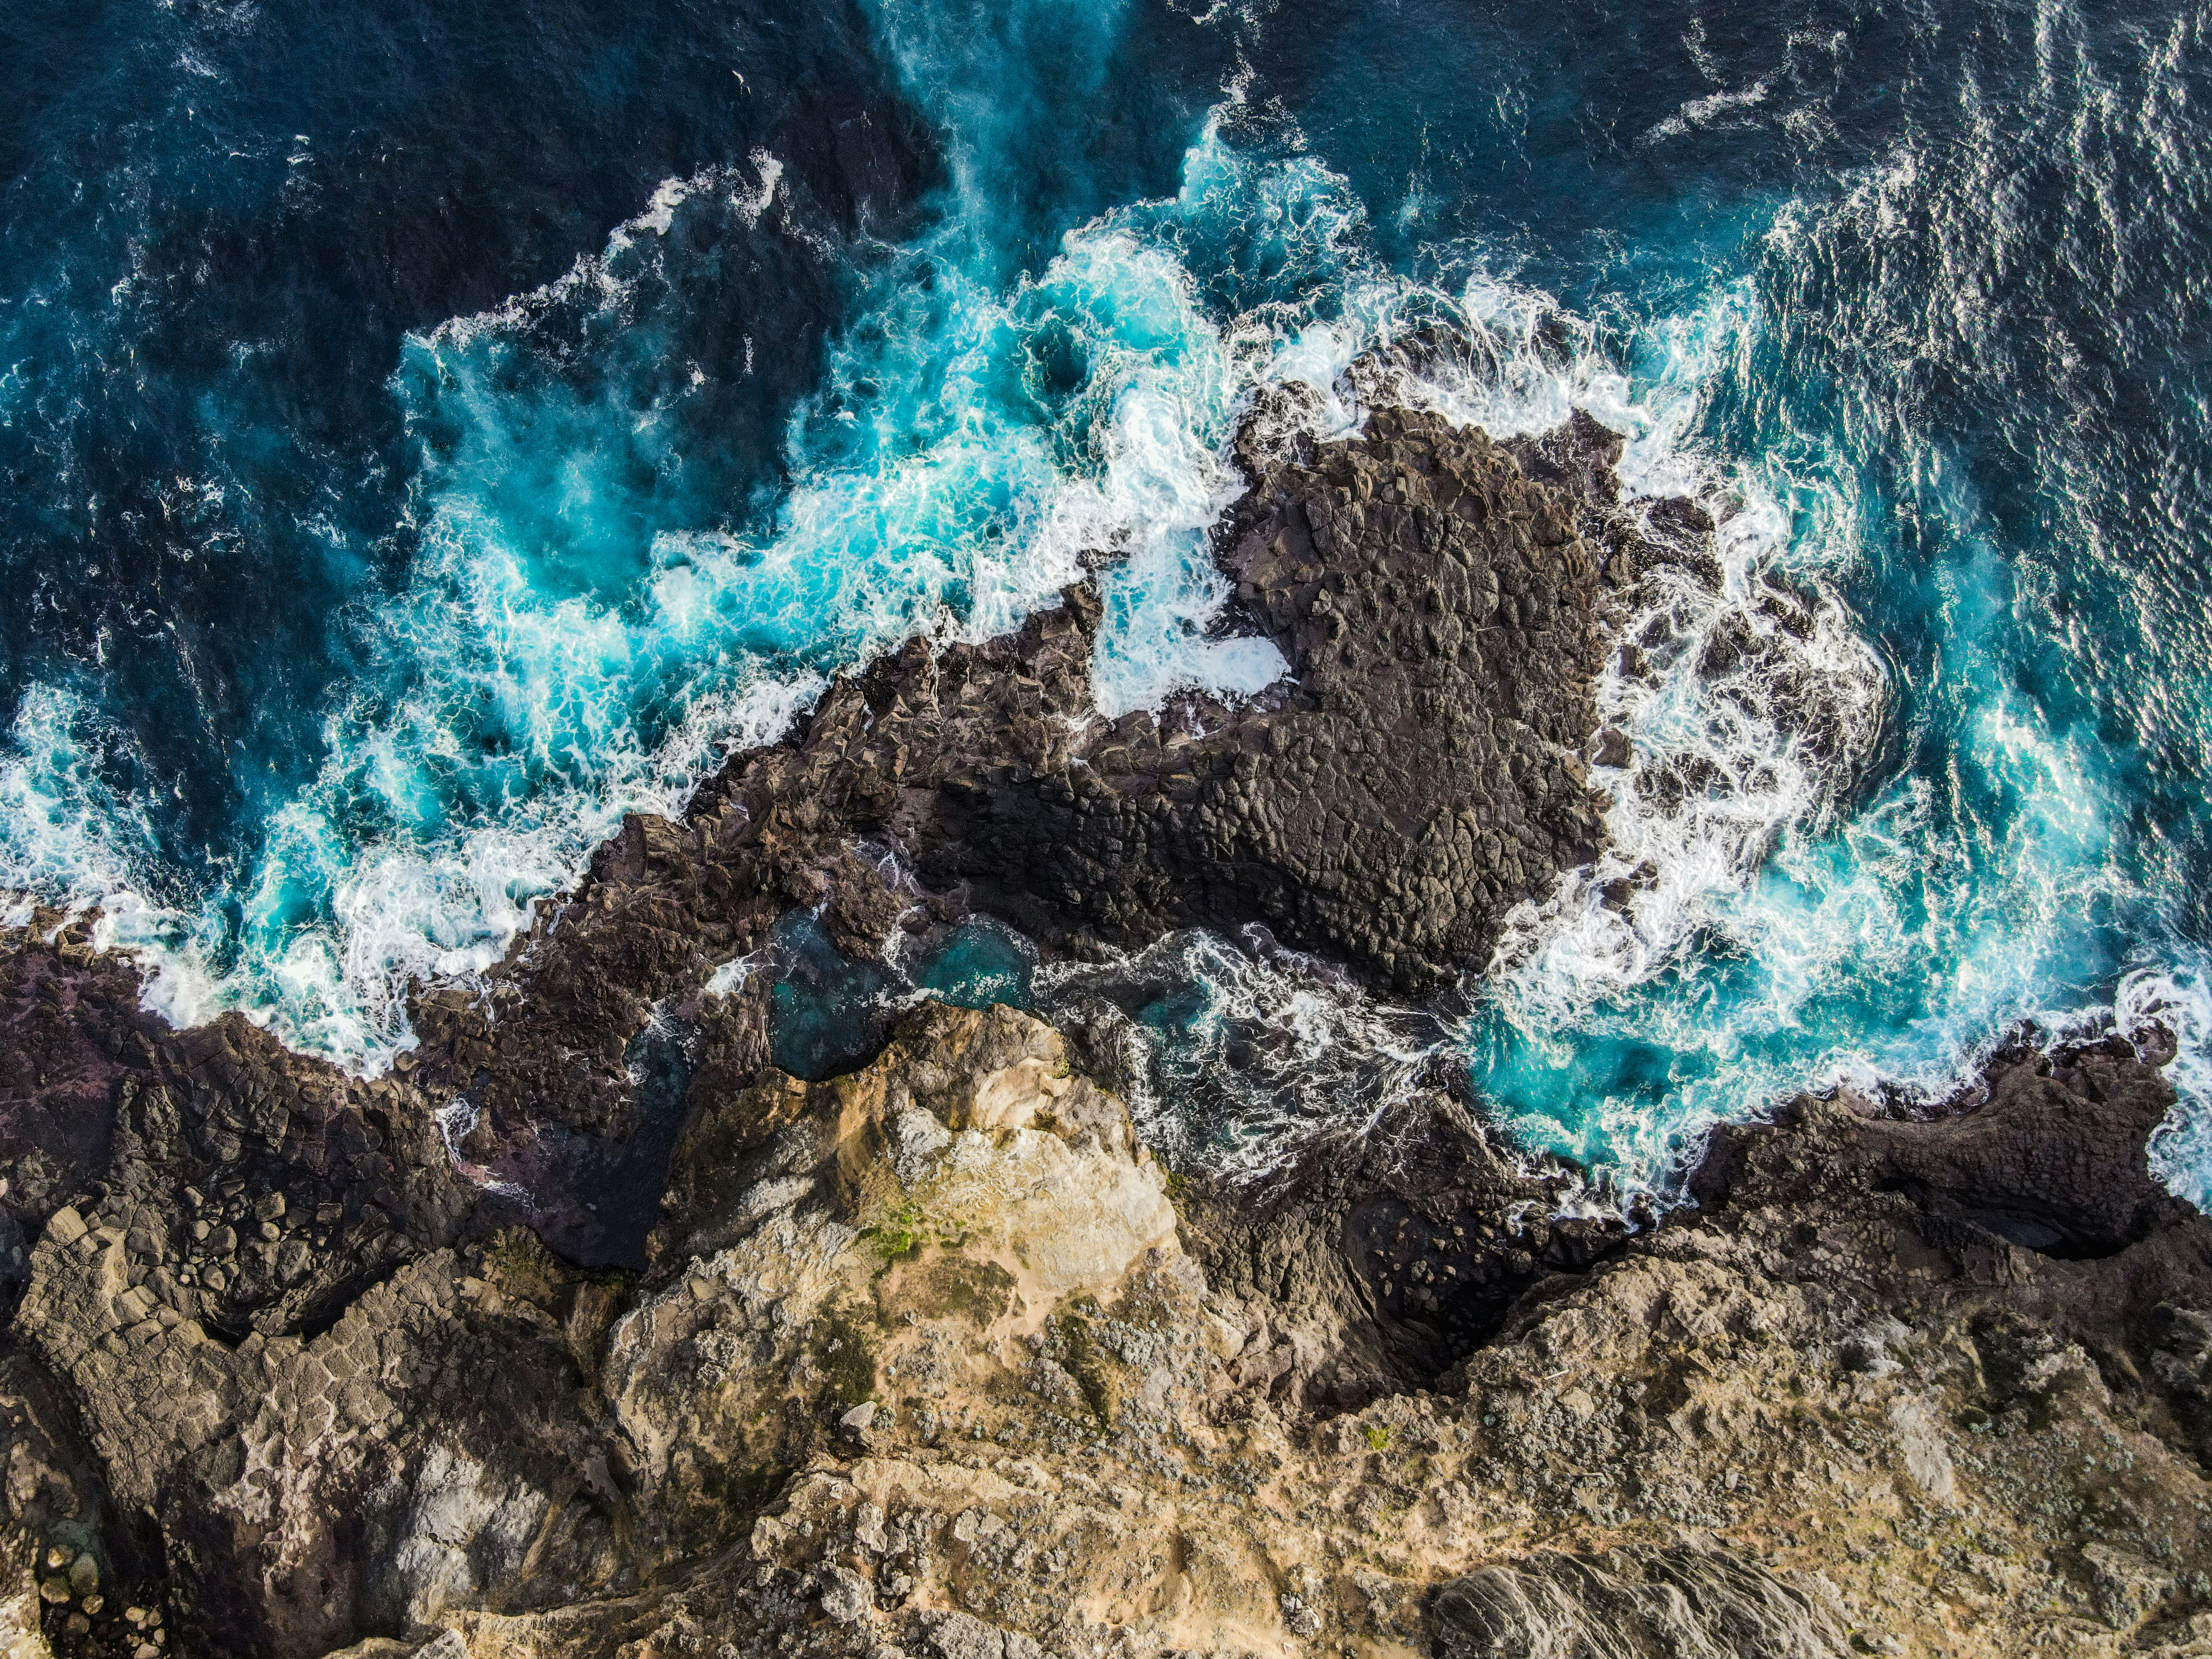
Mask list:
[[[422,1064],[482,1099],[487,1144],[533,1115],[624,1124],[650,1009],[794,905],[854,953],[982,909],[1066,953],[1259,922],[1383,987],[1480,969],[1599,834],[1604,571],[1577,511],[1425,414],[1272,462],[1221,538],[1292,666],[1267,697],[1102,719],[1088,588],[1004,639],[914,641],[684,823],[633,818],[489,998],[422,998]]]

